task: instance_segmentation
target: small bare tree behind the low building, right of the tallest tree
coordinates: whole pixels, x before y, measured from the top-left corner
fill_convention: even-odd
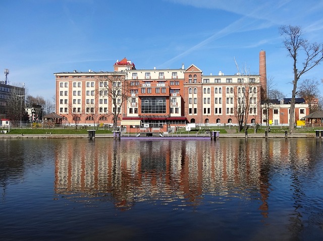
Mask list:
[[[306,104],[308,104],[309,113],[318,110],[319,84],[315,79],[305,79],[298,88],[297,96],[304,98]]]

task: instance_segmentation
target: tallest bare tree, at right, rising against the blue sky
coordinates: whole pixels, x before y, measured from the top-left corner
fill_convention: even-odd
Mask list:
[[[298,26],[282,26],[280,32],[284,37],[284,46],[288,50],[288,56],[293,59],[294,80],[289,118],[289,132],[292,133],[295,127],[297,82],[304,73],[323,59],[323,46],[322,44],[309,43],[306,39],[303,39],[302,30]],[[304,58],[302,64],[298,64],[299,58]]]

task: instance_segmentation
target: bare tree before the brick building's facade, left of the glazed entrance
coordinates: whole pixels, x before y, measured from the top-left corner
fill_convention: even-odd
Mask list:
[[[107,109],[107,115],[113,116],[114,130],[117,130],[118,128],[118,120],[120,118],[120,113],[122,113],[121,107],[131,98],[131,89],[133,88],[135,88],[135,86],[131,86],[124,74],[115,73],[99,79],[99,96],[106,96],[108,97],[107,99],[111,101],[111,108]],[[136,88],[138,88],[138,86],[136,86]]]

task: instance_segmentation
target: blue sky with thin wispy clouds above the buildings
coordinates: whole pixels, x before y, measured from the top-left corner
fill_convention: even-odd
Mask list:
[[[29,95],[51,99],[54,72],[113,71],[126,57],[137,69],[195,64],[205,75],[259,72],[291,97],[292,59],[279,34],[298,25],[323,43],[323,1],[318,0],[0,0],[0,69]],[[2,70],[3,72],[3,70]],[[323,64],[303,78],[323,77]],[[4,80],[5,75],[0,75]]]

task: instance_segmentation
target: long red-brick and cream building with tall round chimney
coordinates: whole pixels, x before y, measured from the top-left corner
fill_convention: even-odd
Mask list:
[[[241,103],[247,107],[247,123],[261,123],[261,97],[266,89],[265,52],[259,53],[259,74],[204,75],[194,64],[178,69],[136,69],[124,58],[114,71],[57,72],[56,112],[63,124],[112,124],[118,108],[118,126],[129,131],[144,128],[168,131],[186,123],[237,125]],[[127,101],[112,100],[104,91],[106,79],[127,85]],[[112,84],[112,85],[114,85]],[[95,115],[94,115],[95,114]]]

